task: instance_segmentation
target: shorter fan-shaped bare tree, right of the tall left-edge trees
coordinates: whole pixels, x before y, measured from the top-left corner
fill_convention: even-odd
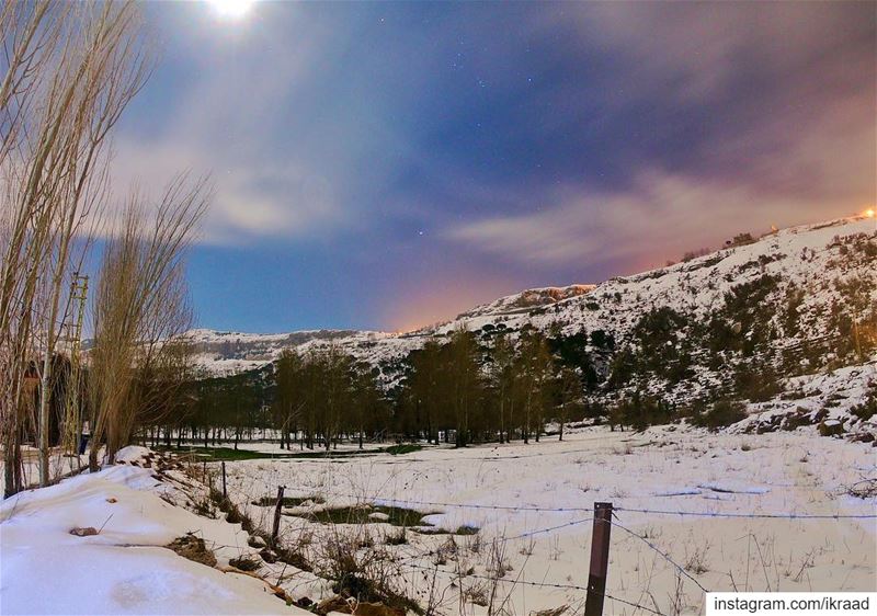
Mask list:
[[[173,180],[155,216],[133,193],[118,230],[110,239],[94,303],[94,346],[90,355],[92,443],[89,466],[106,441],[106,457],[128,443],[138,418],[151,404],[138,388],[137,374],[149,375],[179,347],[191,327],[182,256],[206,212],[207,179]]]

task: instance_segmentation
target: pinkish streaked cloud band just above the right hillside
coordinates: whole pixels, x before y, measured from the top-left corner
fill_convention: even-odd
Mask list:
[[[743,158],[745,172],[631,168],[624,186],[531,195],[528,213],[449,225],[444,237],[545,270],[643,258],[654,264],[737,232],[847,216],[877,203],[877,135],[867,109],[854,98],[828,106],[821,124],[794,138],[777,121],[715,145],[711,156]]]

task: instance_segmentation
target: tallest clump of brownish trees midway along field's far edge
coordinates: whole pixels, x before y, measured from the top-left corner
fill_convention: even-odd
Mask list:
[[[581,369],[566,365],[539,330],[499,330],[485,343],[465,329],[411,353],[392,391],[395,426],[428,442],[539,441],[549,421],[560,438],[583,411]]]

